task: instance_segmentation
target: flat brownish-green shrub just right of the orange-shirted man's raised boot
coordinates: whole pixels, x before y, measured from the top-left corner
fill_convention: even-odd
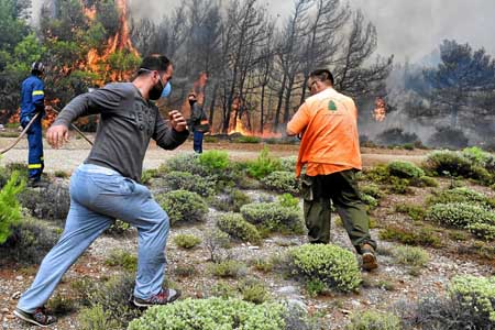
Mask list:
[[[402,227],[391,226],[380,231],[380,238],[385,241],[394,241],[408,245],[443,246],[440,237],[428,228],[411,231]]]

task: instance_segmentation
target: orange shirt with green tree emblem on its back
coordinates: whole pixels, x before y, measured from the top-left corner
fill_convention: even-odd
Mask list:
[[[287,124],[287,130],[304,132],[296,175],[307,166],[309,176],[361,169],[358,109],[354,101],[333,88],[306,100]]]

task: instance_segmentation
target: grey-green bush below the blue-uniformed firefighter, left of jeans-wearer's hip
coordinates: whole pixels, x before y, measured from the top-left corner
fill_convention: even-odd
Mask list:
[[[25,189],[19,195],[19,201],[33,217],[65,221],[70,209],[69,188],[66,183],[54,182],[41,188],[41,191]]]

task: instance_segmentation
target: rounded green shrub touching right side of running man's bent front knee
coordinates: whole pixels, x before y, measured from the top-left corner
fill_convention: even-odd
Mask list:
[[[175,190],[158,195],[156,199],[168,213],[172,224],[204,221],[208,213],[208,206],[196,193]]]

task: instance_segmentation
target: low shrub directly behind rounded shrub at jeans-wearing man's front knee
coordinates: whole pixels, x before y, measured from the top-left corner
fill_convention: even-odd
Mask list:
[[[175,170],[163,177],[162,186],[166,191],[187,190],[202,197],[212,195],[215,190],[215,182],[196,174]]]

